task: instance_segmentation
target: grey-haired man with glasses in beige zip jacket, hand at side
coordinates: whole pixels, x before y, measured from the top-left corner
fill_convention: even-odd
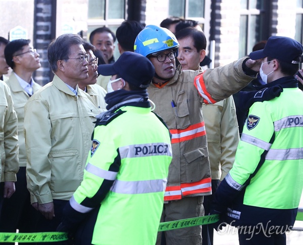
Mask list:
[[[36,231],[55,231],[62,208],[83,178],[98,109],[78,83],[88,78],[83,39],[63,34],[47,48],[52,82],[25,105],[27,187],[40,212]]]

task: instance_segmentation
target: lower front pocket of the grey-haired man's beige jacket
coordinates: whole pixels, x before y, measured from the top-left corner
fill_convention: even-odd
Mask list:
[[[55,193],[75,191],[83,178],[83,168],[76,149],[49,153],[52,163],[51,190]]]

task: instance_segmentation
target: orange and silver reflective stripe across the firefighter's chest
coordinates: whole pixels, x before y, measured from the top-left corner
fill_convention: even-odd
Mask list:
[[[190,125],[186,129],[170,129],[169,131],[172,134],[171,143],[179,143],[206,135],[204,122]]]

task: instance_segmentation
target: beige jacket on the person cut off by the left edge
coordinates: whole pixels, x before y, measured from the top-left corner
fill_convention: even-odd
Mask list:
[[[8,85],[0,80],[0,178],[16,181],[18,164],[18,119]]]

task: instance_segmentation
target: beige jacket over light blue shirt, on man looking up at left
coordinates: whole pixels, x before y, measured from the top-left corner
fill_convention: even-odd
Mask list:
[[[23,133],[23,121],[24,121],[24,106],[29,99],[28,93],[21,87],[14,72],[10,75],[10,78],[5,81],[11,89],[14,109],[18,117],[18,139],[19,139],[19,167],[26,167],[26,152],[25,152],[25,140]],[[41,86],[33,82],[33,92],[40,89]]]

